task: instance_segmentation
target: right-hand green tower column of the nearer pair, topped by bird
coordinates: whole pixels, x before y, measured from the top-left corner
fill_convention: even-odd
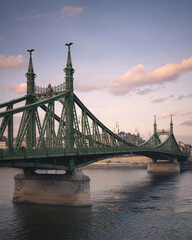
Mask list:
[[[72,43],[66,44],[68,46],[68,57],[67,64],[64,69],[65,72],[65,83],[66,91],[69,93],[66,96],[66,148],[74,148],[74,116],[73,116],[73,106],[74,106],[74,96],[73,96],[73,73],[74,69],[71,62],[70,45]]]

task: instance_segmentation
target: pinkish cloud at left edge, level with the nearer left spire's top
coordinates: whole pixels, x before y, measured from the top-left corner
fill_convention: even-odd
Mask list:
[[[0,55],[0,71],[7,69],[22,69],[27,66],[22,55],[9,56]]]

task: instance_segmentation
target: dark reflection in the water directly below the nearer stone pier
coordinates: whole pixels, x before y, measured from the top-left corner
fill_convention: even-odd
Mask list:
[[[90,207],[14,204],[17,231],[14,239],[88,239]]]

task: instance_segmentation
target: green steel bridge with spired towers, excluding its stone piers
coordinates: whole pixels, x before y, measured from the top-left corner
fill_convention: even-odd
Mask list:
[[[0,104],[0,139],[3,136],[8,139],[7,149],[0,149],[0,167],[72,171],[125,154],[147,156],[154,162],[187,159],[175,140],[172,117],[168,130],[158,130],[155,118],[152,137],[139,146],[104,126],[73,91],[71,43],[66,45],[65,82],[57,86],[48,84],[47,88],[36,86],[32,63],[34,50],[28,50],[27,94]],[[18,119],[16,127],[14,122]],[[167,136],[163,142],[161,135]]]

